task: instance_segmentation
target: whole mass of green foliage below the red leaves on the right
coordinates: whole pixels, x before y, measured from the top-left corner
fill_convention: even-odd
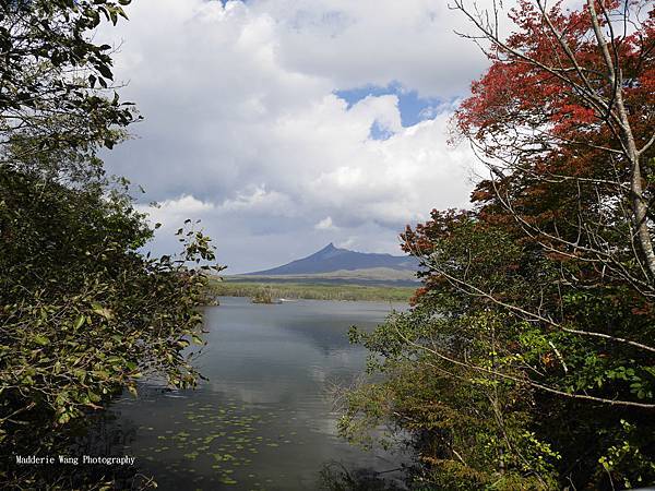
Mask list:
[[[619,285],[568,289],[557,280],[561,265],[516,237],[471,213],[434,213],[433,223],[408,235],[414,250],[430,240],[425,287],[410,311],[392,314],[373,333],[352,331],[352,342],[371,354],[369,373],[384,378],[347,394],[342,435],[368,446],[405,438],[415,452],[413,487],[652,483],[650,410],[610,404],[653,400],[652,357],[534,322],[511,307],[539,307],[568,328],[609,325],[644,342],[650,314],[634,315],[635,300]]]

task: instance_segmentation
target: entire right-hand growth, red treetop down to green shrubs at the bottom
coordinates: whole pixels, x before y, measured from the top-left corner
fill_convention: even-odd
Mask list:
[[[500,2],[454,7],[491,61],[455,116],[489,177],[403,235],[424,288],[358,335],[390,379],[344,433],[391,416],[446,489],[653,483],[655,9],[522,0],[503,37]]]

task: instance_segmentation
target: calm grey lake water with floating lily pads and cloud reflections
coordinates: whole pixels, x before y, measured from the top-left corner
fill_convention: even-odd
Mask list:
[[[394,306],[400,308],[402,306]],[[336,436],[329,392],[352,383],[366,352],[348,327],[373,328],[389,303],[299,300],[262,306],[222,298],[209,308],[195,391],[144,386],[114,410],[124,447],[159,489],[312,490],[321,468],[388,470],[396,457]]]

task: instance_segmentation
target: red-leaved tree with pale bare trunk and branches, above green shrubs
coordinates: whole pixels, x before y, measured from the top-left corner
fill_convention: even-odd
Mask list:
[[[652,297],[655,14],[650,2],[588,0],[579,12],[562,12],[559,3],[547,10],[543,1],[522,1],[510,13],[520,31],[507,40],[489,13],[474,15],[456,4],[478,27],[474,37],[490,44],[492,61],[457,112],[458,130],[492,172],[475,199],[493,195],[543,247],[599,265]],[[539,206],[539,193],[553,201]],[[532,202],[521,201],[531,196]],[[535,205],[545,209],[543,219],[525,212]],[[575,213],[564,214],[570,207]],[[617,248],[611,232],[619,220],[628,228]]]

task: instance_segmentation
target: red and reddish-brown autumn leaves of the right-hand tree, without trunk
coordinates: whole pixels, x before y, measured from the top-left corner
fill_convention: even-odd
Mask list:
[[[491,65],[472,83],[472,95],[454,118],[458,131],[488,160],[499,163],[504,176],[476,187],[471,196],[475,212],[432,211],[431,220],[407,227],[402,235],[406,252],[429,254],[456,224],[473,218],[478,227],[500,227],[517,243],[538,243],[548,252],[545,258],[567,263],[580,251],[568,243],[584,246],[581,241],[592,240],[580,235],[581,220],[603,230],[604,224],[614,227],[626,218],[619,208],[630,194],[617,194],[617,188],[630,189],[631,163],[619,123],[608,116],[618,110],[616,94],[624,103],[638,147],[655,131],[655,2],[628,3],[639,15],[623,32],[626,1],[596,2],[600,27],[609,36],[617,91],[588,8],[569,11],[560,1],[545,15],[535,0],[519,1],[511,12],[516,32],[504,41],[492,40]],[[607,101],[610,110],[596,98]],[[642,161],[653,157],[655,145]],[[650,178],[643,182],[644,193],[655,196],[655,176],[648,172],[644,166],[643,176]],[[526,227],[536,232],[525,233]],[[582,278],[602,274],[593,266],[581,267]],[[424,276],[428,289],[440,280]]]

